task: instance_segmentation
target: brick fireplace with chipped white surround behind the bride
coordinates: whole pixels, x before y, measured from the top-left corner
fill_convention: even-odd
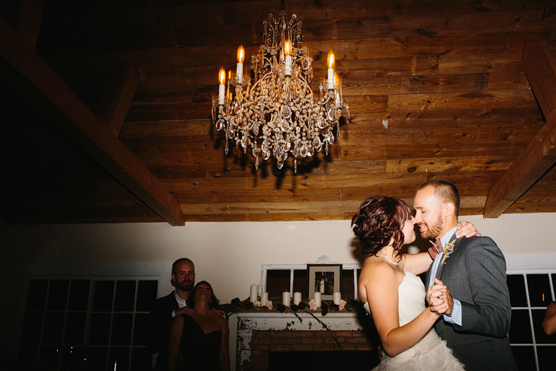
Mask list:
[[[328,313],[324,317],[315,312],[315,316],[331,331],[308,313],[299,313],[301,321],[293,313],[268,310],[238,313],[236,370],[268,370],[277,360],[289,363],[288,357],[314,364],[311,357],[322,358],[315,352],[327,352],[329,363],[346,356],[350,360],[360,358],[365,363],[364,370],[370,370],[378,362],[369,317],[360,318],[357,313],[346,312]]]

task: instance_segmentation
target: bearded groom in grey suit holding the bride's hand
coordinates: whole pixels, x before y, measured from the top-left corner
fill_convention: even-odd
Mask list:
[[[422,237],[449,251],[436,256],[427,277],[429,308],[443,313],[438,336],[467,371],[517,370],[507,337],[512,311],[502,252],[489,237],[456,239],[460,194],[447,180],[422,184],[413,207]]]

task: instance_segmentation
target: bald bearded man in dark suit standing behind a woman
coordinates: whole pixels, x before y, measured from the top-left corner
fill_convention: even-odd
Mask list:
[[[187,298],[195,285],[195,265],[188,258],[181,258],[172,264],[172,291],[167,296],[159,298],[151,309],[151,353],[158,353],[156,371],[168,370],[168,340],[170,327],[177,315],[194,317],[196,311],[187,306]],[[208,311],[210,318],[222,317],[222,310],[215,308]]]

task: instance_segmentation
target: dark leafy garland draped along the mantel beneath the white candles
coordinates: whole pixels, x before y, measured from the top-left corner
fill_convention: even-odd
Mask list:
[[[334,341],[336,341],[336,344],[338,344],[338,346],[340,347],[340,350],[343,351],[342,345],[336,338],[334,332],[332,332],[331,329],[329,329],[329,327],[324,322],[322,322],[322,320],[320,320],[313,311],[308,310],[308,308],[310,308],[309,299],[304,299],[297,306],[293,304],[292,306],[289,307],[286,307],[284,306],[284,304],[282,304],[282,296],[274,296],[272,298],[268,298],[268,300],[272,302],[271,308],[267,308],[266,306],[254,306],[253,303],[249,301],[249,298],[246,298],[244,301],[240,301],[239,298],[234,298],[230,303],[220,304],[220,310],[223,310],[226,313],[226,315],[229,317],[230,315],[239,313],[243,310],[261,310],[263,308],[265,308],[266,310],[269,309],[272,310],[272,308],[275,307],[280,313],[284,313],[286,309],[289,309],[291,313],[296,315],[299,322],[303,322],[303,318],[301,318],[298,315],[298,311],[302,310],[303,312],[315,318],[315,320],[317,320],[322,325],[322,327],[327,329],[329,334],[334,338]],[[348,299],[346,301],[346,304],[343,306],[343,308],[348,312],[357,311],[359,307],[360,307],[360,303],[354,299]],[[323,300],[321,301],[320,310],[322,316],[324,317],[325,315],[327,315],[329,310],[332,310],[334,312],[339,312],[340,307],[337,304],[334,304],[334,302]]]

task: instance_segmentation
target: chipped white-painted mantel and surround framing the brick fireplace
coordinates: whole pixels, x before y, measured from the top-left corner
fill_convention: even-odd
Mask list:
[[[330,330],[336,334],[343,334],[346,337],[351,337],[352,334],[355,334],[355,332],[360,332],[361,335],[358,335],[360,344],[358,344],[357,348],[369,349],[368,341],[363,335],[365,329],[368,329],[368,324],[365,325],[360,321],[360,313],[345,311],[329,312],[325,316],[323,316],[320,311],[311,313],[315,315],[318,320],[321,320],[325,325],[327,325],[328,329],[324,328],[323,325],[311,314],[303,311],[297,312],[297,315],[292,312],[279,313],[275,310],[258,310],[237,313],[237,369],[251,370],[253,368],[250,367],[251,360],[253,360],[253,339],[255,334],[263,331],[290,332],[291,334],[296,332],[327,332]],[[283,338],[283,335],[284,334],[274,334],[272,336],[277,342],[276,346],[280,346],[278,344],[278,338]],[[326,337],[326,335],[322,335]],[[334,343],[333,340],[329,341]],[[302,347],[305,344],[305,341],[301,340],[298,347]],[[347,346],[354,344],[348,344]],[[334,344],[332,344],[332,346],[334,346]],[[270,347],[272,347],[272,342],[270,343]],[[294,350],[294,346],[292,345],[291,347],[291,350]]]

